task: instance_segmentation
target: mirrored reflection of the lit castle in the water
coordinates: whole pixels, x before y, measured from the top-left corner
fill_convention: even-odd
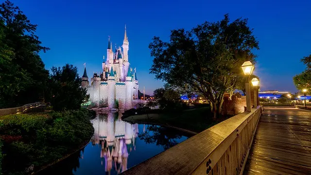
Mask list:
[[[136,149],[138,124],[123,122],[121,116],[121,112],[97,113],[91,121],[94,127],[91,141],[93,145],[102,147],[100,156],[108,174],[113,167],[118,174],[127,170],[128,156]]]

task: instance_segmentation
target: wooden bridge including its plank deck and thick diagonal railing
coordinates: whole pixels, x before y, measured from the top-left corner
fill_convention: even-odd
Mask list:
[[[311,112],[252,108],[122,175],[311,175]]]

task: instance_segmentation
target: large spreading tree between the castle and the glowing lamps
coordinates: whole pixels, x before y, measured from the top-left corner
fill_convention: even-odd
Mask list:
[[[154,57],[150,73],[174,88],[208,99],[211,111],[221,113],[225,92],[239,87],[241,65],[255,64],[253,49],[259,43],[247,26],[247,19],[230,23],[229,15],[218,22],[205,22],[190,31],[172,30],[170,41],[154,37],[149,48]]]

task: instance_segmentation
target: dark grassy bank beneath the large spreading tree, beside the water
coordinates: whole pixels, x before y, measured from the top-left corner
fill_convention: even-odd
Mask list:
[[[209,107],[202,107],[170,113],[148,114],[148,116],[147,114],[134,115],[124,120],[136,123],[169,125],[199,133],[226,119],[213,120],[212,116]]]

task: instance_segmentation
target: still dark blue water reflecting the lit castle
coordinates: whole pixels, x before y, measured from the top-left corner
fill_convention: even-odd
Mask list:
[[[80,152],[41,172],[42,175],[118,175],[187,139],[180,131],[121,121],[121,112],[91,121],[94,136]]]

